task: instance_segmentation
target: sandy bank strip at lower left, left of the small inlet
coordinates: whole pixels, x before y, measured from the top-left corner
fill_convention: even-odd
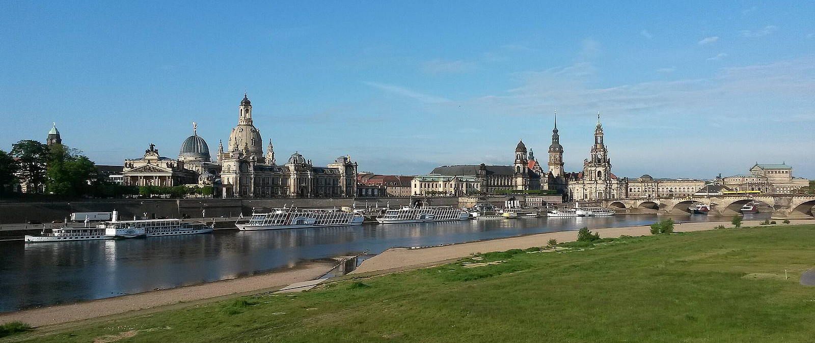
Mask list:
[[[109,297],[77,304],[58,305],[0,314],[0,323],[20,321],[34,327],[93,319],[134,310],[156,309],[180,302],[200,301],[246,292],[276,290],[289,284],[317,279],[336,266],[336,262],[303,262],[293,268],[277,270],[263,275],[226,279],[209,284],[198,284],[153,292]],[[157,310],[157,309],[156,309]]]

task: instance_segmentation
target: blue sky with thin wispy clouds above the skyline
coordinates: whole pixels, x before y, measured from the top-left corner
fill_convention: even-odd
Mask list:
[[[620,176],[712,178],[756,161],[815,178],[815,2],[0,2],[0,149],[45,139],[98,164],[192,121],[212,152],[244,90],[278,160],[424,174],[566,170],[597,111]]]

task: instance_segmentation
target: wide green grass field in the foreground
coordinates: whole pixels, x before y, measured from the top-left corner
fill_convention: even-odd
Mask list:
[[[812,342],[815,226],[485,253],[7,339],[42,342]],[[474,264],[478,263],[478,264]],[[789,279],[784,278],[788,270]]]

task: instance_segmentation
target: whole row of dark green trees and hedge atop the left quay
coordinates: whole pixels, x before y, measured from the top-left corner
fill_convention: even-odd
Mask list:
[[[82,152],[63,144],[48,146],[24,139],[0,150],[0,195],[24,184],[28,192],[55,196],[112,198],[121,196],[211,196],[213,187],[125,186],[99,174],[95,163]]]

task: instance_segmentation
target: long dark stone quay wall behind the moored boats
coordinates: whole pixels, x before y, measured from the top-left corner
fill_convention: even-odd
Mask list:
[[[296,206],[299,208],[332,208],[356,206],[385,207],[390,204],[411,204],[411,198],[337,198],[337,199],[116,199],[116,200],[2,200],[0,201],[0,224],[29,221],[62,222],[74,212],[111,212],[116,209],[122,219],[236,217],[249,215],[253,209],[270,209]],[[458,206],[458,198],[432,198],[433,205]]]

